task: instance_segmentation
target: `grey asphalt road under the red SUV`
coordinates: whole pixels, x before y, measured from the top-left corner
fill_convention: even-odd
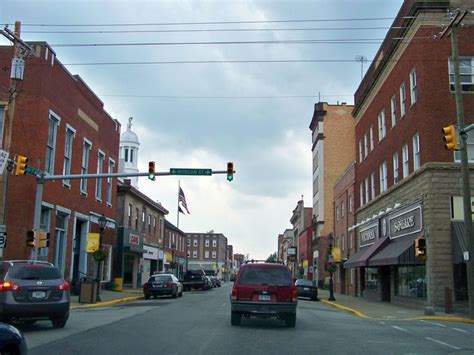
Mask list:
[[[474,354],[474,325],[358,318],[300,300],[296,327],[230,325],[230,284],[183,298],[74,310],[64,329],[23,328],[29,354]]]

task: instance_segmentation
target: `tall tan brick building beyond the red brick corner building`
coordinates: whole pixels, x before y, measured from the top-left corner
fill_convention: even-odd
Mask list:
[[[309,125],[313,146],[313,277],[326,278],[327,236],[334,231],[334,183],[354,161],[353,106],[318,102]]]

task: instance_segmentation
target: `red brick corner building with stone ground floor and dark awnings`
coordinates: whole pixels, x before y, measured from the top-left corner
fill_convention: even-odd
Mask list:
[[[364,297],[441,308],[448,287],[459,310],[466,301],[460,158],[444,148],[440,133],[456,121],[451,40],[433,36],[449,23],[447,10],[462,3],[406,0],[392,25],[397,29],[388,32],[355,93],[353,228],[360,250],[345,267],[360,270]],[[463,99],[466,123],[472,123],[473,16],[463,22]],[[426,260],[414,255],[419,237],[426,238]]]

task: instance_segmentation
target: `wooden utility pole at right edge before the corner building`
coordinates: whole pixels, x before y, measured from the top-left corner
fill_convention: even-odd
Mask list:
[[[469,162],[467,154],[467,132],[464,123],[464,105],[461,88],[461,74],[459,70],[459,50],[457,30],[462,19],[468,14],[467,10],[454,14],[449,25],[441,33],[443,37],[449,30],[451,32],[452,63],[454,68],[454,97],[456,100],[457,124],[461,132],[461,173],[463,184],[463,206],[464,226],[466,228],[468,260],[467,263],[467,287],[469,298],[469,317],[474,319],[474,235],[472,234],[472,211],[471,211],[471,188],[469,184]]]

